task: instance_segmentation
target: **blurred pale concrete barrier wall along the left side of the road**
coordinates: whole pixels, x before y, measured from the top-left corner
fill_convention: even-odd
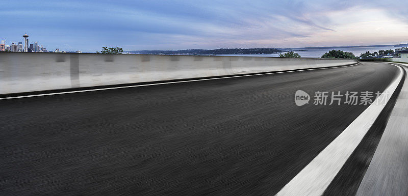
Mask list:
[[[356,60],[0,52],[0,94],[349,65]]]

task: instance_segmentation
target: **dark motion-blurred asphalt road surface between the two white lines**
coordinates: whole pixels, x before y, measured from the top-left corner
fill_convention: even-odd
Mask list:
[[[315,92],[382,92],[398,73],[361,63],[0,100],[0,194],[273,195],[368,107],[314,105]]]

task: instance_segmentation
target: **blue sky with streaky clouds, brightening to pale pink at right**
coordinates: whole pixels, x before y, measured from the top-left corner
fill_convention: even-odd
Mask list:
[[[291,48],[408,43],[406,0],[0,1],[0,39],[48,50]]]

